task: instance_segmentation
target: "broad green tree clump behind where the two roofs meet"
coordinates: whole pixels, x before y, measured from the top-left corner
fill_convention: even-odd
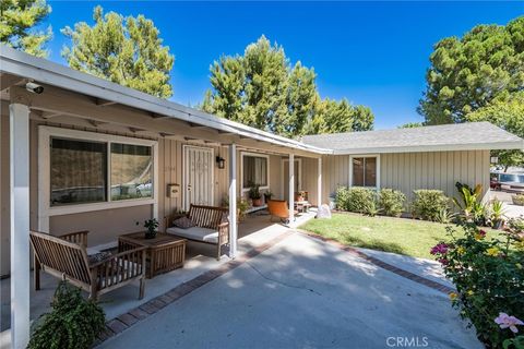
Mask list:
[[[211,67],[212,89],[202,109],[285,136],[369,130],[369,108],[347,100],[321,100],[313,69],[291,64],[284,49],[264,36],[243,56],[224,56]],[[335,117],[333,113],[336,113]]]

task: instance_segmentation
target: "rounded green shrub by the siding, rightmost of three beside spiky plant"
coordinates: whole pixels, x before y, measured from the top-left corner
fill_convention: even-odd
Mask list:
[[[419,189],[414,191],[412,214],[415,218],[437,221],[441,212],[448,209],[448,197],[441,190]]]

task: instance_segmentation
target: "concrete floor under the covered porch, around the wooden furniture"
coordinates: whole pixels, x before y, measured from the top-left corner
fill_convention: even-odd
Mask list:
[[[308,219],[313,218],[314,215],[315,210],[312,209],[310,213],[297,217],[293,226],[303,224]],[[239,225],[238,253],[241,254],[250,251],[287,230],[289,230],[289,228],[284,225],[271,222],[270,216],[264,214],[264,212],[251,214],[243,222]],[[119,288],[112,292],[103,294],[99,301],[104,308],[104,311],[106,312],[106,318],[114,318],[122,313],[126,313],[130,309],[133,309],[159,294],[169,291],[177,285],[186,282],[201,275],[202,273],[216,268],[229,261],[229,258],[225,255],[221,258],[221,261],[216,261],[214,257],[215,246],[202,243],[189,242],[187,244],[186,254],[187,258],[183,268],[176,269],[146,280],[145,297],[142,300],[138,299],[139,281]],[[38,318],[41,314],[50,310],[49,304],[59,281],[57,278],[51,277],[46,273],[41,273],[40,277],[41,289],[39,291],[35,291],[33,288],[32,272],[32,321]],[[10,278],[0,280],[0,349],[9,348],[10,345]]]

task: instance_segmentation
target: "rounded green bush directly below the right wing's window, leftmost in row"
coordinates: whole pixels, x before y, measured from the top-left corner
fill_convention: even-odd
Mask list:
[[[340,186],[336,190],[336,208],[374,216],[377,214],[377,194],[367,188]]]

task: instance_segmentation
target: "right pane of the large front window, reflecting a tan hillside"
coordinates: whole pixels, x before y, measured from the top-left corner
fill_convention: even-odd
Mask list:
[[[151,146],[111,143],[111,200],[153,197]]]

